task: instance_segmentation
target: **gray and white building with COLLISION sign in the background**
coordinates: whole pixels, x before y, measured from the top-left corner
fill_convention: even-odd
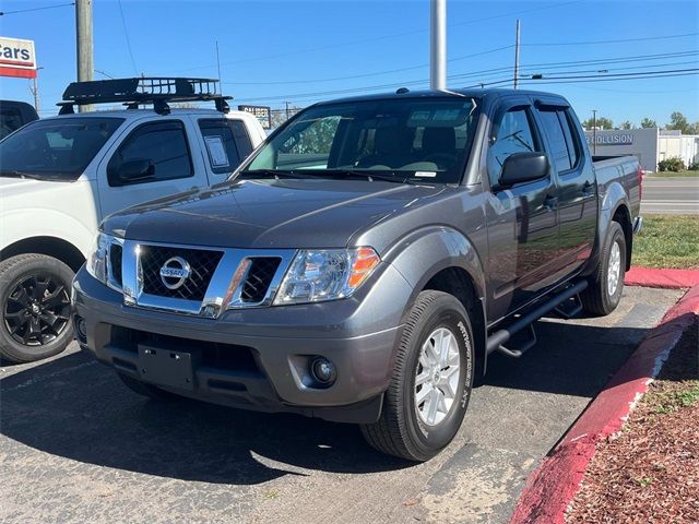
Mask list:
[[[592,156],[635,155],[644,171],[656,171],[665,158],[679,157],[686,166],[699,160],[699,134],[648,128],[585,131],[585,135]]]

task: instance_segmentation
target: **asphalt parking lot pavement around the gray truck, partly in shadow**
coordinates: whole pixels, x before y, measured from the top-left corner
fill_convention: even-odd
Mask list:
[[[626,288],[603,319],[538,322],[489,361],[460,436],[413,465],[352,426],[127,390],[69,352],[0,374],[0,521],[503,522],[535,467],[683,291]]]

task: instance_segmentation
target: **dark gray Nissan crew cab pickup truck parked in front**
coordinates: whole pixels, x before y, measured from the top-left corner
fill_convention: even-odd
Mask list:
[[[75,336],[143,395],[353,422],[426,461],[489,354],[617,307],[640,201],[638,160],[594,162],[560,96],[316,104],[227,182],[107,217]]]

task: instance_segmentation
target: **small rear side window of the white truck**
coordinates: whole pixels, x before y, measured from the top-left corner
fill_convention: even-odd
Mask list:
[[[245,124],[239,120],[202,119],[199,120],[199,129],[213,172],[232,172],[252,151]]]

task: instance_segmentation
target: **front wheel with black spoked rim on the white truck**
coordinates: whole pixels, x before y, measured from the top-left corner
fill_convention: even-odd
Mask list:
[[[0,355],[31,362],[61,353],[73,340],[70,289],[75,274],[46,254],[0,262]]]

